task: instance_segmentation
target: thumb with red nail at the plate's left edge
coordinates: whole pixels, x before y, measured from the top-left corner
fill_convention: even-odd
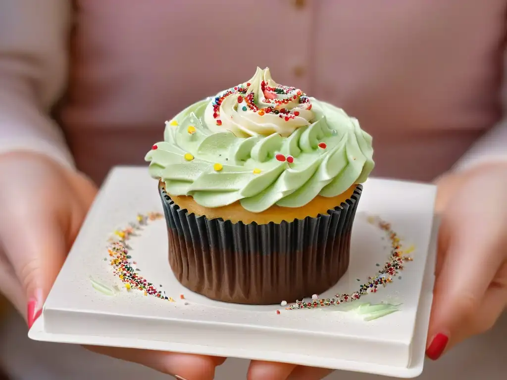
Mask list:
[[[44,212],[30,215],[23,211],[8,215],[10,220],[2,223],[0,235],[7,259],[26,296],[26,319],[31,326],[65,260],[65,236],[56,215]],[[11,298],[9,294],[7,297]]]

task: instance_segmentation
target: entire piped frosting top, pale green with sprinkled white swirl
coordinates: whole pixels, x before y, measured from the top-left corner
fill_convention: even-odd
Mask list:
[[[168,194],[250,212],[302,207],[366,180],[372,137],[341,108],[278,85],[269,69],[166,122],[147,154]]]

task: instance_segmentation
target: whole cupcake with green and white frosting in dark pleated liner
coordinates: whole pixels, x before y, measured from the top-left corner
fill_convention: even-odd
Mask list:
[[[169,263],[209,298],[266,305],[321,293],[347,271],[372,137],[268,68],[166,122],[146,156]]]

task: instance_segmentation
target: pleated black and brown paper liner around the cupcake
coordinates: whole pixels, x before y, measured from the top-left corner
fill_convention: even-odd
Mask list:
[[[189,214],[161,185],[171,269],[188,289],[225,302],[270,305],[322,293],[347,271],[362,190],[325,215],[244,224]]]

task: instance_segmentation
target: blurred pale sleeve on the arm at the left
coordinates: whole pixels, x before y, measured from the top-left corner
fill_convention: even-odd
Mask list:
[[[67,79],[69,0],[0,0],[0,154],[29,150],[74,166],[49,116]]]

